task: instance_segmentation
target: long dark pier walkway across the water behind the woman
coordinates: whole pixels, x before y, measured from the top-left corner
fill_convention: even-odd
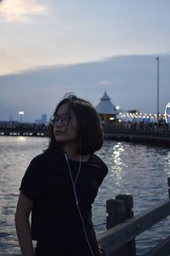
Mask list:
[[[154,143],[170,147],[170,129],[166,124],[105,123],[103,127],[105,139]],[[48,125],[2,122],[0,136],[48,137]]]

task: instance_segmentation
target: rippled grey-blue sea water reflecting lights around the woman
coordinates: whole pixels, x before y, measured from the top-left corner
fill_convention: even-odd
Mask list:
[[[20,181],[31,159],[47,147],[47,137],[0,137],[1,256],[21,255],[14,228]],[[169,148],[106,140],[97,154],[109,172],[93,206],[96,233],[106,230],[105,203],[116,195],[133,195],[134,216],[168,198]],[[137,255],[144,255],[169,234],[170,218],[166,218],[136,237]]]

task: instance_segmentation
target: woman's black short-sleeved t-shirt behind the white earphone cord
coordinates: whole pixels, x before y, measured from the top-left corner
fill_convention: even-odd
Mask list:
[[[73,180],[79,161],[69,160]],[[92,203],[108,169],[92,154],[82,162],[77,178],[77,200],[89,239],[94,239]],[[82,221],[77,210],[71,176],[64,154],[43,153],[31,160],[22,179],[21,192],[34,201],[31,212],[33,240],[57,240],[60,243],[82,241]]]

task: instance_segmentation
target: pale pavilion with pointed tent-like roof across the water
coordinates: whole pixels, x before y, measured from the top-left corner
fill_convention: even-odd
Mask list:
[[[106,91],[100,98],[100,102],[95,109],[99,113],[102,121],[105,122],[116,119],[116,115],[120,112],[119,108],[111,102],[111,98],[107,95]]]

